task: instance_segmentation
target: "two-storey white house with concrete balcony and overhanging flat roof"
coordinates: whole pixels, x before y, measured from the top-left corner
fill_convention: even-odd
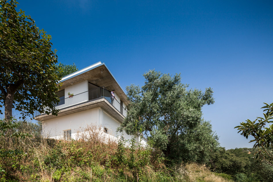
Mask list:
[[[58,115],[36,113],[34,118],[42,122],[45,137],[76,139],[76,133],[88,125],[96,125],[109,137],[122,136],[116,129],[126,117],[128,101],[105,63],[98,62],[67,75],[58,84],[61,86],[57,92],[60,101],[55,103],[60,110]],[[115,90],[116,96],[113,101],[112,90]],[[134,136],[123,133],[122,137],[130,140]],[[137,136],[136,140],[147,142],[141,136]]]

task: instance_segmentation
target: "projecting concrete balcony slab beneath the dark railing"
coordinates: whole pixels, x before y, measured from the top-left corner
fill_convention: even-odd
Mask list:
[[[119,111],[117,111],[105,98],[101,98],[99,100],[94,100],[92,102],[87,102],[84,104],[69,107],[67,109],[62,109],[62,110],[60,110],[60,112],[58,113],[57,116],[52,115],[50,113],[49,115],[47,115],[47,114],[39,115],[39,116],[35,117],[34,119],[36,119],[38,121],[46,121],[49,119],[53,119],[53,118],[57,118],[57,117],[65,116],[65,115],[70,115],[73,113],[78,113],[81,111],[86,111],[86,110],[94,109],[97,107],[101,107],[109,115],[111,115],[112,117],[117,119],[120,123],[123,122],[124,116]]]

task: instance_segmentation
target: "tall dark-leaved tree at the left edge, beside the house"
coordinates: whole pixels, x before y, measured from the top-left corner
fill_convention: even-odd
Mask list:
[[[51,36],[24,11],[17,12],[17,4],[16,0],[0,2],[0,104],[5,106],[5,120],[12,117],[12,108],[23,119],[35,110],[44,112],[46,106],[45,113],[57,115],[53,103],[59,100],[55,92],[60,76]]]

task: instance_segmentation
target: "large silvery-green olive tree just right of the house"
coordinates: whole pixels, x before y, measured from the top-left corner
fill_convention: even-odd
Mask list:
[[[184,152],[192,152],[196,147],[191,149],[189,144],[198,141],[198,137],[189,138],[189,135],[202,124],[201,108],[214,103],[212,89],[206,88],[205,92],[187,90],[188,85],[181,84],[180,74],[171,77],[150,70],[143,76],[144,86],[126,87],[130,103],[119,131],[137,134],[135,131],[142,130],[149,136],[151,145],[162,150],[166,157],[177,162],[187,160]],[[209,142],[205,142],[204,147],[210,148]]]

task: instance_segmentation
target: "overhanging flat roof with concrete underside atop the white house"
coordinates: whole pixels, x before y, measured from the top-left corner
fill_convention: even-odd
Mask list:
[[[88,80],[90,83],[95,84],[99,87],[104,86],[107,90],[115,90],[120,96],[122,102],[128,105],[127,96],[109,71],[104,63],[98,62],[89,67],[76,71],[70,75],[65,76],[61,82],[60,90],[64,88]]]

